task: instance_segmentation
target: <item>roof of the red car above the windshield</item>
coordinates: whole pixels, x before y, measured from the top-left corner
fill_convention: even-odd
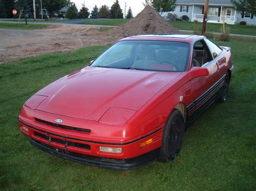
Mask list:
[[[194,41],[206,38],[195,34],[145,34],[138,36],[131,36],[121,39],[125,40],[163,40],[163,41],[180,41],[186,43],[193,43]]]

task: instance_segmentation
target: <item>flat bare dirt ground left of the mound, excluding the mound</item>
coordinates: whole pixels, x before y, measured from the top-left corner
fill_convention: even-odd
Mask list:
[[[112,44],[115,40],[86,25],[50,25],[42,30],[0,29],[0,62],[72,51],[89,45]]]

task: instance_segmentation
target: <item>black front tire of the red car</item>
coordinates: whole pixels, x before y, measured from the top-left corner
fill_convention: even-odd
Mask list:
[[[181,112],[174,109],[166,121],[163,132],[159,160],[168,162],[180,152],[185,132],[184,119]]]

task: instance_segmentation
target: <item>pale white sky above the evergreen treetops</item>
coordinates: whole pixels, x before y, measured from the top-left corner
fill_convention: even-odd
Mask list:
[[[73,2],[76,3],[76,6],[79,10],[82,7],[82,3],[84,3],[84,0],[73,0]],[[100,8],[100,6],[102,5],[107,5],[110,8],[114,2],[116,2],[116,0],[95,0],[95,1],[85,0],[85,6],[91,12],[91,10],[95,5],[97,5],[98,8]],[[144,6],[142,4],[143,2],[145,1],[144,0],[127,0],[127,1],[119,0],[119,5],[121,6],[121,9],[123,9],[123,13],[124,13],[124,5],[125,5],[124,3],[126,3],[127,5],[126,13],[127,13],[127,10],[129,9],[129,6],[131,6],[133,16],[135,17],[140,11],[144,9]]]

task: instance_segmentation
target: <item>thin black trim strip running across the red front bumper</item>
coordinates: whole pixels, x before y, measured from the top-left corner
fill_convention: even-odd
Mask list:
[[[144,139],[144,138],[146,138],[146,137],[148,137],[148,136],[151,136],[151,135],[153,135],[154,133],[156,133],[156,132],[158,132],[158,131],[160,131],[160,130],[163,129],[163,128],[159,128],[159,129],[157,129],[157,130],[155,130],[155,131],[153,131],[153,132],[151,132],[151,133],[149,133],[149,134],[147,134],[147,135],[145,135],[145,136],[143,136],[143,137],[140,137],[140,138],[138,138],[138,139],[136,139],[136,140],[132,140],[131,142],[126,142],[126,143],[106,143],[106,142],[96,142],[96,141],[93,141],[93,140],[77,139],[77,138],[72,138],[72,137],[67,137],[67,136],[61,136],[61,135],[57,135],[57,134],[55,134],[55,133],[50,133],[50,132],[47,132],[47,131],[44,131],[44,130],[41,130],[41,129],[37,129],[37,128],[31,126],[31,125],[25,124],[24,122],[22,122],[22,121],[20,121],[20,120],[19,120],[19,123],[21,123],[21,124],[23,124],[23,125],[26,125],[26,126],[30,127],[31,129],[35,129],[35,130],[37,130],[37,131],[49,133],[50,135],[55,135],[55,136],[58,136],[58,137],[64,137],[64,138],[73,139],[73,140],[80,140],[80,141],[82,141],[82,142],[97,143],[97,144],[104,144],[104,145],[129,145],[129,144],[131,144],[131,143],[137,142],[138,140],[141,140],[141,139]]]

